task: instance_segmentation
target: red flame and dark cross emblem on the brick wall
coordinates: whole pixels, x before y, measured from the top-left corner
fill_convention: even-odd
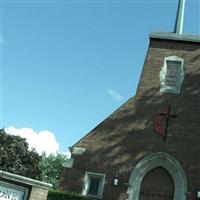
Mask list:
[[[177,117],[175,114],[170,114],[171,105],[164,107],[155,118],[155,132],[161,135],[164,139],[167,136],[168,122],[170,117]]]

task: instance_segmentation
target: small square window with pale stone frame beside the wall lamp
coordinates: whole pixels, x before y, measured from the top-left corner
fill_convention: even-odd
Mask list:
[[[104,174],[86,172],[82,194],[101,199],[103,195],[104,182]]]

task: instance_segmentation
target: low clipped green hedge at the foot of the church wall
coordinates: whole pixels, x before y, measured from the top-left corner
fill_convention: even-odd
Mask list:
[[[93,199],[81,196],[79,194],[50,190],[48,192],[47,200],[93,200]]]

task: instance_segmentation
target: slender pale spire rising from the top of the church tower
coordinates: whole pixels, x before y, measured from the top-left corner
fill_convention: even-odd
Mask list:
[[[182,34],[183,32],[183,20],[184,20],[185,0],[179,0],[178,10],[176,14],[176,22],[174,27],[174,33]]]

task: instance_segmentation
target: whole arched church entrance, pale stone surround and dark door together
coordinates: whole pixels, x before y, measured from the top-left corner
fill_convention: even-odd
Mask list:
[[[178,161],[165,152],[143,158],[130,174],[127,200],[186,200],[187,179]]]

